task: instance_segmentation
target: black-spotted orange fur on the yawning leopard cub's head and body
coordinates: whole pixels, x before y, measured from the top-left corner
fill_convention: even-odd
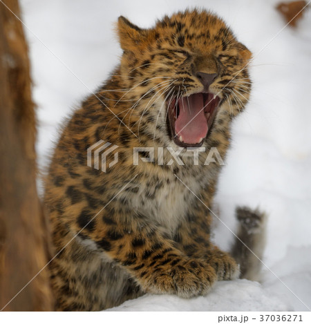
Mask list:
[[[178,12],[147,30],[120,17],[117,33],[120,65],[66,124],[46,178],[57,309],[100,310],[146,292],[190,298],[239,272],[209,240],[220,165],[204,165],[200,155],[194,166],[182,148],[185,165],[167,163],[164,151],[164,165],[156,154],[137,166],[133,147],[180,149],[167,102],[202,91],[196,72],[216,73],[209,90],[221,102],[204,146],[225,159],[232,120],[249,98],[249,50],[205,10]],[[87,149],[99,140],[119,146],[119,162],[106,173],[87,166]]]

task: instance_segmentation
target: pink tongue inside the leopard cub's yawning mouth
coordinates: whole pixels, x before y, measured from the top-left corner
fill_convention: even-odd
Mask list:
[[[196,144],[200,138],[205,138],[208,131],[204,115],[204,100],[202,93],[195,93],[178,100],[179,115],[175,122],[176,137],[182,137],[182,142]]]

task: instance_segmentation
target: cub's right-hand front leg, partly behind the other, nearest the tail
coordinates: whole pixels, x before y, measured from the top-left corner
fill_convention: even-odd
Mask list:
[[[203,193],[201,198],[204,197]],[[205,201],[208,206],[208,198],[205,197]],[[174,240],[187,256],[203,259],[211,265],[218,280],[238,278],[240,271],[234,258],[210,242],[211,214],[206,206],[198,200],[196,207],[189,209],[187,216],[176,229]]]

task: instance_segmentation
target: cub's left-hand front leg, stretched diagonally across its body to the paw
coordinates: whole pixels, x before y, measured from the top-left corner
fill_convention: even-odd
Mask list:
[[[81,231],[83,225],[77,222],[74,231]],[[81,234],[126,269],[143,292],[190,298],[206,294],[217,279],[209,263],[187,256],[149,218],[125,213],[120,205],[104,209]]]

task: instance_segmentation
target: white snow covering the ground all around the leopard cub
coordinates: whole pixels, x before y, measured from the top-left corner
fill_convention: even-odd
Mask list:
[[[311,308],[311,10],[285,28],[274,0],[22,0],[38,105],[39,166],[47,164],[57,127],[109,75],[121,54],[113,23],[124,15],[142,27],[174,10],[203,6],[227,21],[254,53],[254,91],[234,124],[234,144],[219,185],[223,222],[234,207],[269,213],[261,284],[218,283],[205,297],[143,296],[115,310],[310,310]],[[281,32],[280,32],[281,31]],[[35,35],[39,37],[35,37]],[[54,53],[54,54],[53,54]],[[62,63],[63,62],[63,63]],[[231,232],[221,223],[224,249]],[[272,273],[273,271],[273,273]]]

